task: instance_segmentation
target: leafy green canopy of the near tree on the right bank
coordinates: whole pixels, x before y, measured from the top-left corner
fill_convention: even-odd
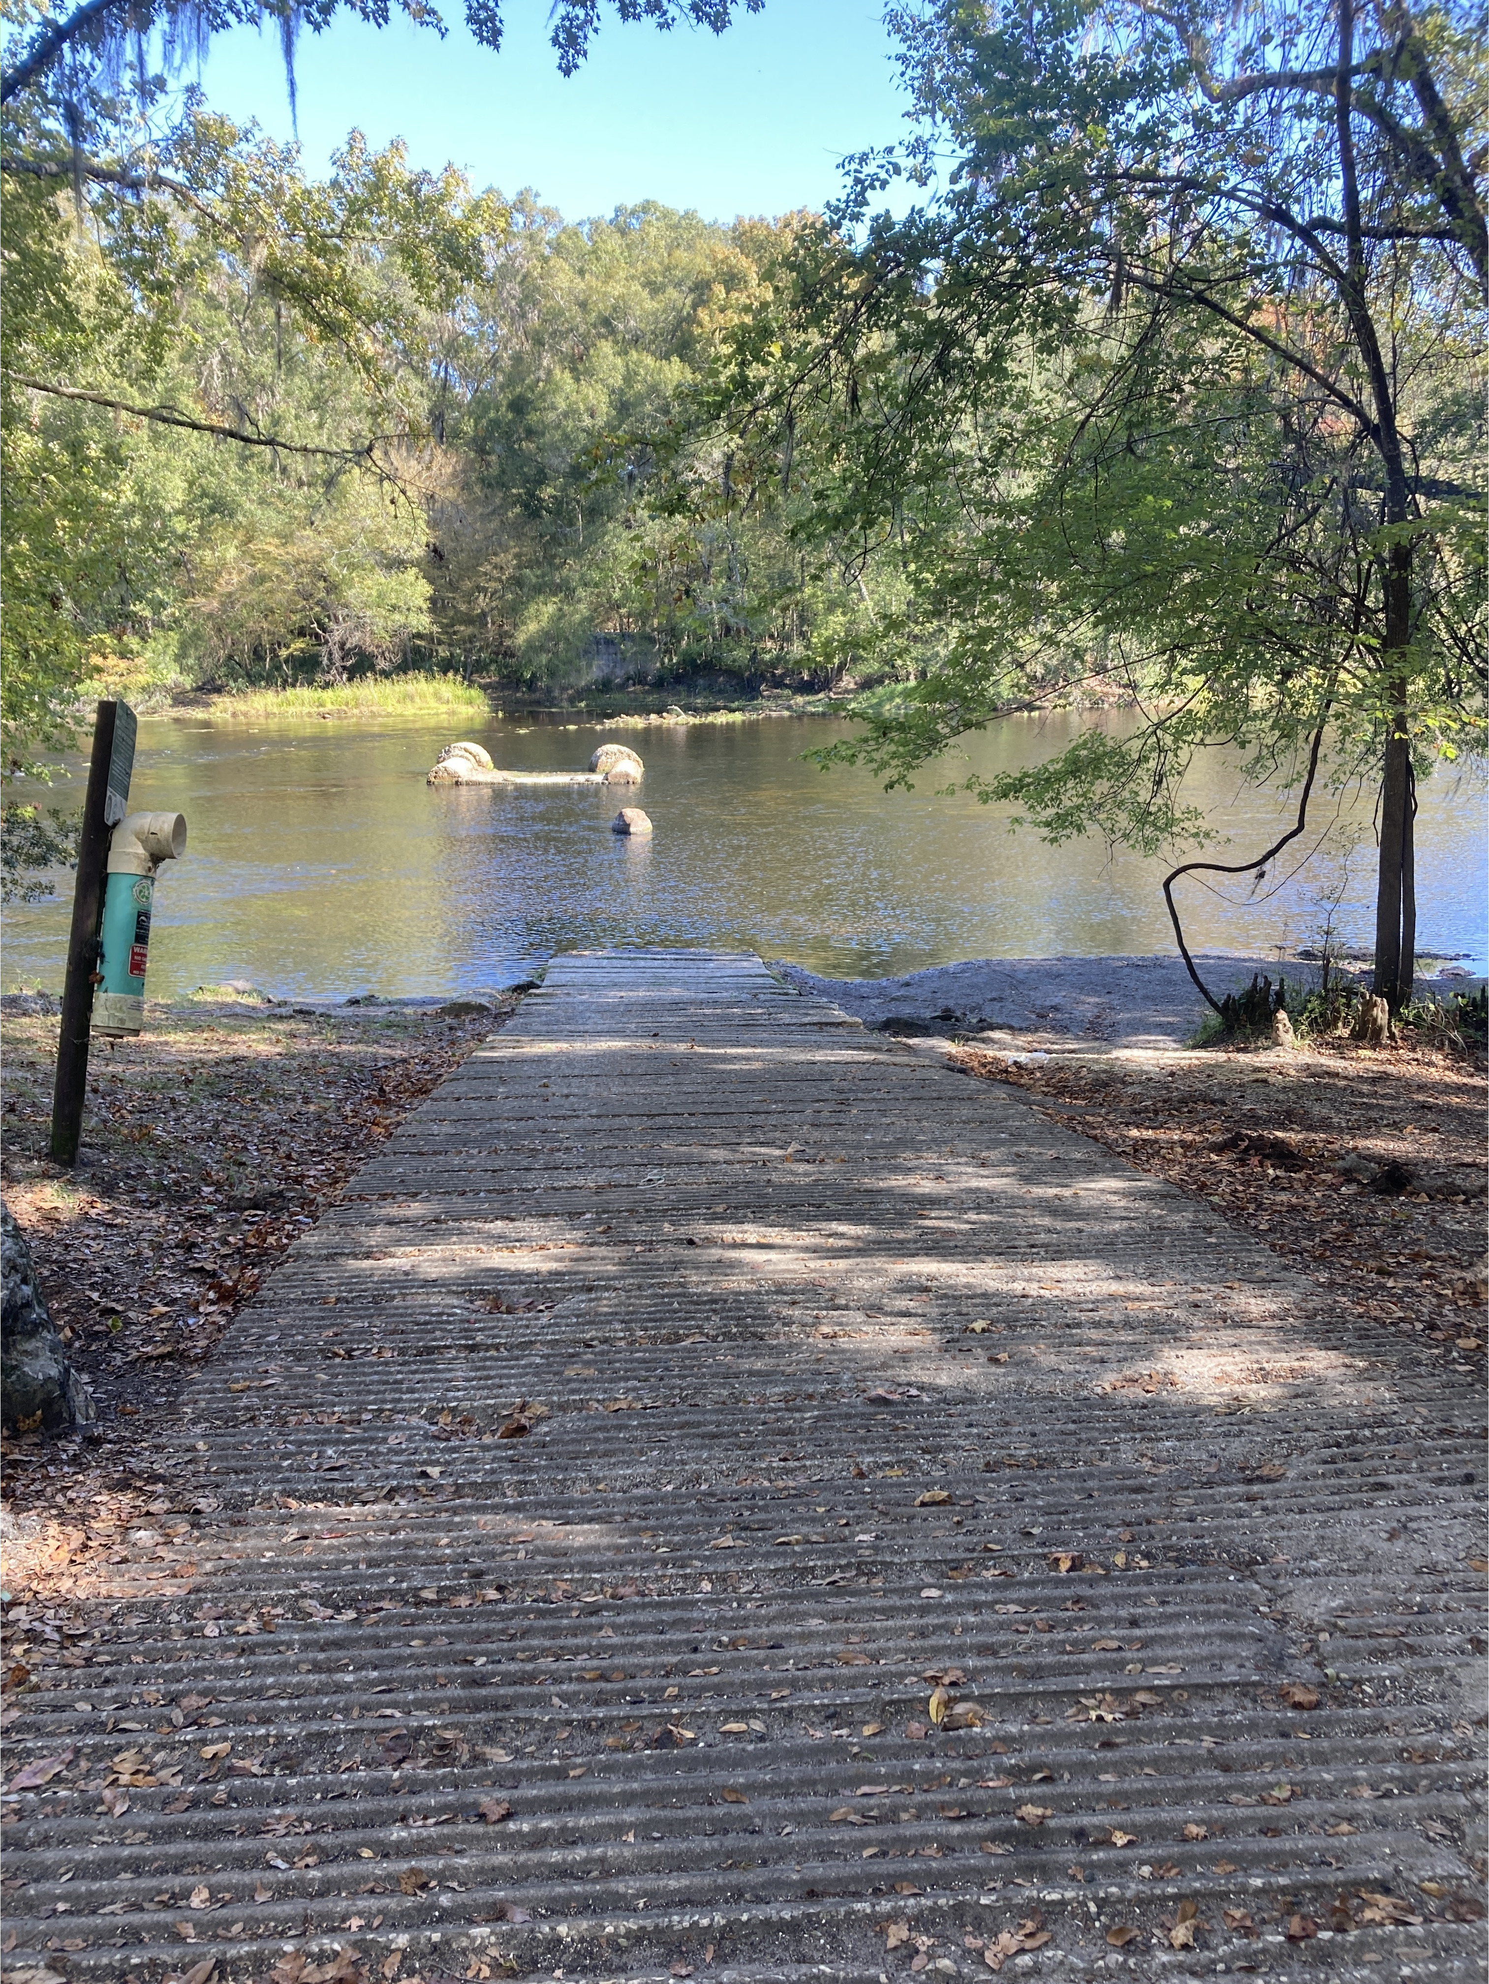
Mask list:
[[[893,20],[919,149],[860,161],[717,373],[743,444],[810,454],[798,534],[899,579],[868,637],[899,684],[824,760],[907,784],[1003,714],[1122,700],[1126,738],[961,784],[1153,851],[1205,837],[1201,748],[1283,784],[1320,724],[1336,780],[1483,748],[1473,14],[1362,16],[1348,127],[1332,12]],[[947,149],[939,200],[868,218]]]

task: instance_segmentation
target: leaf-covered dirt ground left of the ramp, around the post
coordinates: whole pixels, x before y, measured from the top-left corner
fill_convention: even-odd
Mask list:
[[[99,1409],[83,1432],[4,1440],[12,1595],[36,1555],[16,1518],[75,1518],[107,1546],[149,1506],[155,1428],[236,1309],[377,1141],[514,1010],[516,998],[153,1004],[139,1040],[93,1044],[81,1161],[68,1173],[46,1159],[56,1000],[0,1002],[0,1180]]]

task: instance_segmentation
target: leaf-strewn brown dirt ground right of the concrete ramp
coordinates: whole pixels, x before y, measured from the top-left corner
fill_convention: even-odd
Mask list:
[[[1481,1055],[1342,1040],[1040,1059],[951,1052],[1209,1200],[1336,1302],[1418,1337],[1445,1371],[1483,1377]]]

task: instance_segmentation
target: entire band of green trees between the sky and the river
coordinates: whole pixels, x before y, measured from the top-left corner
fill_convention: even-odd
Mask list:
[[[308,181],[171,115],[139,40],[129,69],[125,24],[240,16],[137,4],[83,8],[66,87],[48,58],[4,113],[12,774],[109,671],[852,682],[826,758],[891,784],[1122,702],[967,784],[1181,849],[1197,750],[1304,813],[1370,778],[1410,994],[1416,782],[1483,748],[1481,10],[895,8],[915,139],[828,214],[715,226],[566,224],[355,133]],[[598,22],[556,10],[562,65]]]

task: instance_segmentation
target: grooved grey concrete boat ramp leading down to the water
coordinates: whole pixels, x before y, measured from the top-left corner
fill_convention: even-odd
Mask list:
[[[12,1974],[1481,1970],[1471,1405],[752,956],[554,960],[169,1438]]]

